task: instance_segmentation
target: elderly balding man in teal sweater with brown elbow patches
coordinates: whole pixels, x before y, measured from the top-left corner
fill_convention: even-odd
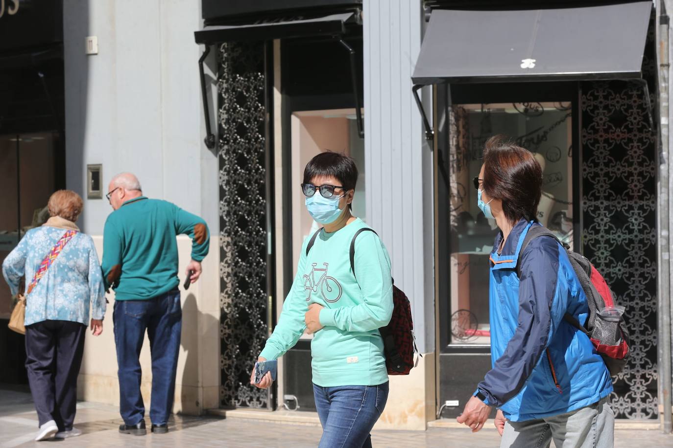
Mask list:
[[[115,292],[112,322],[124,419],[119,432],[147,433],[139,361],[147,330],[152,356],[151,431],[166,433],[182,328],[176,236],[192,238],[187,275],[193,283],[208,254],[208,227],[203,219],[170,202],[143,196],[131,173],[116,175],[107,197],[114,212],[105,222],[102,269],[106,287]]]

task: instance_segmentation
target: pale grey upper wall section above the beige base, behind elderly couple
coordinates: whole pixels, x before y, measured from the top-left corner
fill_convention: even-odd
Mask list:
[[[67,187],[82,194],[81,228],[102,234],[108,201],[85,198],[86,165],[102,163],[103,189],[135,173],[149,197],[217,220],[217,156],[203,144],[194,43],[199,0],[65,0]],[[85,36],[99,53],[85,55]]]

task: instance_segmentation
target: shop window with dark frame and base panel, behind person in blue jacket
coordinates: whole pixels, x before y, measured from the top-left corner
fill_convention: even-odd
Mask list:
[[[472,186],[472,178],[479,175],[483,163],[486,140],[502,134],[534,152],[544,176],[538,208],[538,220],[544,226],[572,247],[579,224],[573,219],[579,217],[573,205],[577,193],[573,96],[546,101],[523,91],[504,101],[506,95],[502,94],[491,99],[466,93],[457,92],[454,103],[449,106],[447,101],[441,109],[447,119],[439,133],[444,145],[439,143],[437,148],[438,415],[444,418],[455,418],[462,412],[476,385],[491,369],[489,255],[499,230],[495,220],[486,218],[477,207],[477,191]]]

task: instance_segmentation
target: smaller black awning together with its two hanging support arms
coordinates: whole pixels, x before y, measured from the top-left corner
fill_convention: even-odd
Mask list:
[[[349,52],[351,80],[353,82],[353,91],[355,92],[357,132],[360,138],[364,138],[365,131],[359,95],[361,83],[359,83],[357,73],[355,50],[343,38],[348,32],[347,24],[356,22],[357,17],[359,17],[356,14],[355,12],[346,12],[309,19],[290,19],[286,21],[275,19],[273,21],[256,22],[253,24],[205,26],[203,30],[194,32],[194,40],[196,40],[197,44],[205,45],[205,50],[201,58],[199,58],[199,73],[201,75],[203,113],[206,122],[206,138],[204,142],[207,148],[215,148],[215,134],[213,134],[213,130],[211,129],[203,64],[210,53],[211,45],[228,41],[259,41],[317,36],[332,37],[337,40]]]

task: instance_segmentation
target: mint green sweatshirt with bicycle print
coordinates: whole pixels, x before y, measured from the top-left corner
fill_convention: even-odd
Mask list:
[[[324,327],[311,342],[314,384],[376,386],[388,381],[378,328],[392,316],[392,278],[388,251],[374,232],[357,236],[357,280],[351,272],[351,240],[365,227],[357,218],[336,232],[321,230],[308,257],[310,238],[304,241],[297,275],[261,357],[277,359],[291,349],[306,329],[308,306],[316,303],[325,308],[320,311]]]

